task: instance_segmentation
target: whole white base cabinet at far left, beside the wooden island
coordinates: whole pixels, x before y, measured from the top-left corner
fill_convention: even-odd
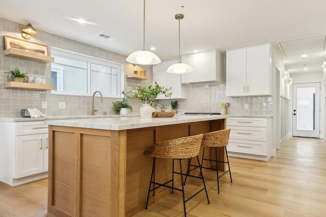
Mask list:
[[[12,186],[46,178],[48,126],[44,121],[0,122],[0,181]]]

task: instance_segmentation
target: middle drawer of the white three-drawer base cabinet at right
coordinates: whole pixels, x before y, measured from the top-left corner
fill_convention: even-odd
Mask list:
[[[266,127],[227,126],[230,139],[267,141]]]

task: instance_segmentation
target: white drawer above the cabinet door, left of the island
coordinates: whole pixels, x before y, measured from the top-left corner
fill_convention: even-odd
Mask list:
[[[16,135],[48,133],[48,125],[44,121],[16,122]]]

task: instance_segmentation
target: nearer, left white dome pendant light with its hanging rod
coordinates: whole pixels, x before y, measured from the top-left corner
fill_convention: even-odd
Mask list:
[[[152,52],[145,50],[145,0],[144,0],[144,32],[143,32],[143,50],[131,53],[126,61],[132,64],[140,65],[154,65],[161,62],[161,60]]]

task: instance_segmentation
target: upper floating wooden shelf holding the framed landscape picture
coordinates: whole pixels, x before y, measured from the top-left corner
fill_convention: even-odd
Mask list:
[[[26,60],[33,60],[42,63],[53,62],[55,58],[50,56],[41,55],[39,53],[33,53],[29,51],[19,50],[15,48],[9,48],[4,50],[4,55],[8,57],[16,57]]]

